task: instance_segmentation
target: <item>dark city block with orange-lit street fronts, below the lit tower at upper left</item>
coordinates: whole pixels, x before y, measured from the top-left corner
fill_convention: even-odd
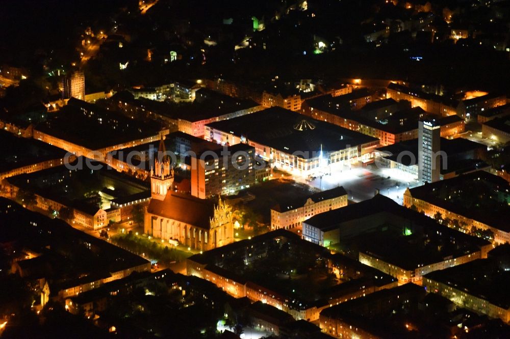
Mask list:
[[[158,140],[160,130],[156,123],[137,124],[116,112],[71,98],[54,116],[37,125],[34,139],[77,156],[104,160],[108,152]]]

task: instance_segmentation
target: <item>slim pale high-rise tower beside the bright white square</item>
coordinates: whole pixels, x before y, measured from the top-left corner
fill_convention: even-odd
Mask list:
[[[439,180],[441,171],[441,126],[435,119],[418,122],[418,179],[425,183]]]

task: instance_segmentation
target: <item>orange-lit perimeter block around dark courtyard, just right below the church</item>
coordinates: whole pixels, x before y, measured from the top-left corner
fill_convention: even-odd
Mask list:
[[[327,268],[335,272],[337,277],[339,277],[340,274],[343,276],[349,275],[352,276],[352,280],[349,281],[349,287],[346,289],[339,289],[334,293],[328,294],[327,297],[322,300],[310,303],[295,295],[282,294],[281,292],[275,291],[275,289],[261,286],[251,280],[244,279],[235,272],[209,263],[211,258],[208,258],[208,256],[218,256],[218,258],[214,260],[215,262],[221,262],[222,258],[227,256],[239,256],[249,262],[254,258],[264,256],[264,252],[267,250],[266,247],[268,243],[271,242],[269,239],[284,239],[285,237],[297,237],[298,241],[302,241],[297,235],[289,231],[275,230],[252,238],[250,242],[253,246],[247,246],[247,240],[242,240],[217,251],[210,251],[192,256],[186,260],[186,274],[211,281],[211,283],[215,284],[218,288],[236,298],[248,297],[252,301],[262,301],[265,304],[283,310],[296,320],[304,319],[307,321],[318,320],[321,310],[325,308],[348,300],[360,298],[382,289],[397,286],[397,281],[384,273],[376,274],[377,277],[374,279],[372,275],[374,271],[372,271],[371,268],[350,259],[344,262],[343,256],[338,259],[327,252],[324,258],[327,261]],[[257,239],[260,239],[260,241]],[[264,241],[265,239],[269,241],[266,242]],[[309,245],[303,244],[303,246]]]

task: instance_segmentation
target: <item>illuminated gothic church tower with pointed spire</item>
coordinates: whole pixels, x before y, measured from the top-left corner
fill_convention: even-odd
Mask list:
[[[172,189],[173,168],[166,153],[165,142],[161,135],[158,152],[155,154],[154,167],[150,168],[150,191],[152,199],[163,200]]]

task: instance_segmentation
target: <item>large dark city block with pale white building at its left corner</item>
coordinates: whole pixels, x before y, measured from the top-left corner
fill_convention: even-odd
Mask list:
[[[360,262],[399,284],[420,284],[423,274],[486,258],[492,249],[487,240],[444,228],[380,194],[304,221],[302,234],[322,246],[339,243],[357,252]]]

